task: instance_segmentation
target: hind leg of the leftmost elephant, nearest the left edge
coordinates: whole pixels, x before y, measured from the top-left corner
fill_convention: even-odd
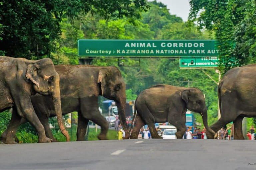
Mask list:
[[[16,108],[13,108],[10,124],[9,124],[8,128],[1,135],[2,142],[7,143],[7,144],[16,143],[16,141],[14,141],[14,138],[16,137],[15,134],[19,128],[20,122],[21,122],[21,117],[17,114]]]

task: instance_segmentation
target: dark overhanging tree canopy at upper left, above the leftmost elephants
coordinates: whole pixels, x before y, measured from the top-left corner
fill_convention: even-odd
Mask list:
[[[61,35],[60,22],[88,12],[104,18],[139,17],[146,0],[0,1],[0,50],[12,57],[50,57]]]

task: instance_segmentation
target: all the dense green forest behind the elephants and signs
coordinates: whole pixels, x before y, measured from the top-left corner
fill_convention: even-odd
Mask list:
[[[28,59],[49,57],[55,64],[78,64],[78,39],[216,39],[220,43],[219,70],[222,74],[232,67],[255,61],[254,1],[190,0],[187,22],[156,1],[46,2],[0,0],[1,55]],[[136,61],[127,59],[126,62],[129,65]],[[93,59],[92,64],[114,65],[121,70],[127,100],[135,100],[142,90],[152,85],[188,87],[184,81],[193,81],[190,87],[198,87],[205,94],[208,124],[218,120],[217,84],[204,73],[218,82],[215,69],[180,69],[179,60],[169,58],[145,58],[140,59],[140,66],[119,67],[118,59],[101,57]],[[9,119],[6,112],[0,114],[0,133]],[[196,121],[202,123],[199,114],[196,114]],[[252,124],[252,120],[249,123]]]

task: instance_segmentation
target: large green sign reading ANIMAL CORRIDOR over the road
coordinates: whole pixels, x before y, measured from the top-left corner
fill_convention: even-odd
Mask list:
[[[78,40],[78,56],[218,56],[215,40]]]

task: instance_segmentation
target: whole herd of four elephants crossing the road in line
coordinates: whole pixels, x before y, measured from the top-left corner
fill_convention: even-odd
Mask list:
[[[155,123],[169,122],[182,138],[187,109],[202,115],[207,137],[233,121],[235,139],[243,139],[242,119],[256,117],[256,64],[229,70],[218,87],[221,118],[208,127],[207,108],[198,88],[159,84],[142,91],[135,101],[134,128],[128,129],[125,118],[126,85],[121,72],[114,66],[53,65],[49,58],[27,60],[0,56],[0,112],[13,108],[8,128],[1,141],[16,143],[20,124],[29,122],[37,131],[38,142],[56,141],[49,117],[57,116],[61,132],[70,137],[62,115],[77,111],[77,140],[83,140],[91,120],[101,126],[98,138],[107,139],[108,123],[98,110],[98,96],[114,100],[125,138],[137,138],[142,126],[148,125],[152,138],[160,138]],[[131,133],[130,133],[131,131]]]

